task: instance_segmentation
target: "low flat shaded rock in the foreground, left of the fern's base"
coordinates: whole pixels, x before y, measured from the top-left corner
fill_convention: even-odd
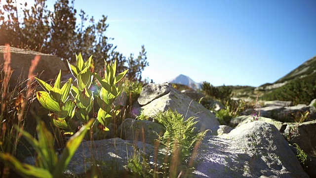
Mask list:
[[[111,138],[81,143],[73,158],[67,166],[68,172],[75,176],[82,176],[91,169],[91,165],[97,165],[102,175],[119,174],[126,171],[128,158],[135,153],[135,149],[149,157],[150,163],[155,163],[155,147],[140,141],[128,141],[120,138]],[[157,163],[162,163],[163,156],[159,156]],[[141,157],[142,161],[142,157]]]

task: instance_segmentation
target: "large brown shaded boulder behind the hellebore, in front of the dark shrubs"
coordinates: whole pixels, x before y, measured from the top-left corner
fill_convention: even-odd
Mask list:
[[[0,64],[3,65],[3,54],[6,52],[6,46],[0,46]],[[40,62],[38,63],[34,73],[38,74],[38,78],[43,81],[55,79],[59,73],[62,72],[62,76],[68,74],[68,68],[65,63],[56,56],[43,54],[36,51],[19,49],[16,47],[10,47],[11,52],[11,69],[13,70],[9,85],[14,88],[20,85],[22,82],[28,79],[29,69],[32,64],[32,60],[36,55],[40,56]],[[23,86],[25,87],[25,86]]]

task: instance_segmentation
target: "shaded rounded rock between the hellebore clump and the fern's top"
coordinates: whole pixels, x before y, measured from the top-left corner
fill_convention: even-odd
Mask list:
[[[158,135],[162,136],[166,128],[162,125],[145,120],[125,119],[118,127],[118,132],[126,140],[142,141],[154,145]]]

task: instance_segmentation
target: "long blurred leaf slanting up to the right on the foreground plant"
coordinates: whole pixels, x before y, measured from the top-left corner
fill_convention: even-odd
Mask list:
[[[60,178],[64,169],[66,169],[69,161],[74,156],[77,148],[79,147],[84,135],[88,131],[88,128],[95,122],[94,119],[91,119],[85,126],[81,127],[80,130],[74,134],[66,143],[66,148],[64,148],[58,164],[56,165],[53,171],[54,178]]]

